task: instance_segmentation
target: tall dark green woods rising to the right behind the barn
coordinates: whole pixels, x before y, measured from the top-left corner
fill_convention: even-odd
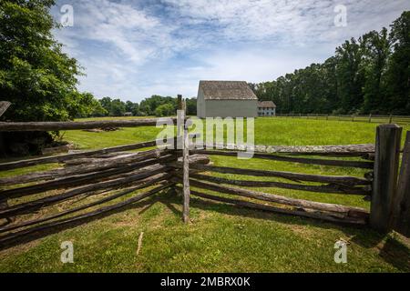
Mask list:
[[[282,114],[410,115],[410,12],[390,30],[346,40],[323,64],[251,88]]]

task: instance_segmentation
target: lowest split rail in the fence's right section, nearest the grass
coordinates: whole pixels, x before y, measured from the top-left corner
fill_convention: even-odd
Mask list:
[[[221,196],[213,196],[213,195],[201,193],[196,190],[191,190],[190,193],[194,196],[200,196],[205,199],[210,199],[214,201],[229,203],[231,205],[248,207],[248,208],[262,210],[262,211],[280,213],[283,215],[304,216],[304,217],[321,219],[321,220],[330,221],[330,222],[339,223],[339,224],[350,224],[350,225],[359,225],[359,226],[366,225],[366,218],[354,218],[354,217],[340,218],[337,216],[332,216],[331,214],[325,214],[325,213],[321,213],[317,211],[310,212],[310,211],[305,211],[305,210],[300,210],[300,209],[286,209],[286,208],[280,208],[280,207],[275,207],[275,206],[266,206],[266,205],[261,205],[261,204],[252,203],[252,202],[243,201],[243,200],[231,199],[231,198],[226,198],[226,197],[221,197]]]

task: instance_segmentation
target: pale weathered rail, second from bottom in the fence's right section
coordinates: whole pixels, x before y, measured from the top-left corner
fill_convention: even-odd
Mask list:
[[[174,181],[178,182],[178,179],[175,179]],[[190,179],[190,185],[196,186],[202,189],[208,189],[211,191],[216,191],[216,192],[221,192],[221,193],[226,193],[226,194],[231,194],[231,195],[244,196],[244,197],[249,197],[249,198],[258,199],[262,201],[269,201],[269,202],[278,203],[278,204],[287,205],[287,206],[296,206],[296,207],[301,207],[301,208],[309,208],[313,210],[321,210],[321,211],[326,211],[326,212],[339,213],[339,214],[344,214],[345,216],[350,216],[350,217],[367,217],[368,216],[368,212],[365,209],[358,208],[358,207],[339,206],[339,205],[328,204],[328,203],[320,203],[320,202],[313,202],[313,201],[302,200],[302,199],[294,199],[294,198],[285,197],[285,196],[277,196],[273,194],[266,194],[262,192],[251,191],[248,189],[241,189],[241,188],[236,188],[236,187],[231,187],[231,186],[221,186],[221,185],[217,185],[217,184],[213,184],[209,182],[205,183],[205,182],[201,182],[195,179]]]

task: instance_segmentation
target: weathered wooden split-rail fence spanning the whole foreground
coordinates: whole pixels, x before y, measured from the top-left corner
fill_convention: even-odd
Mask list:
[[[180,95],[179,109],[177,118],[174,118],[177,121],[177,136],[170,143],[173,146],[181,145],[181,149],[180,146],[175,149],[166,146],[147,149],[157,145],[157,141],[153,140],[1,163],[0,171],[52,163],[64,164],[64,167],[0,177],[0,221],[4,221],[0,225],[0,248],[126,209],[168,189],[182,194],[182,218],[185,223],[190,222],[190,197],[197,196],[283,215],[370,226],[380,232],[395,229],[409,236],[410,132],[406,133],[405,146],[401,151],[400,126],[379,125],[374,145],[254,146],[252,158],[368,170],[363,177],[324,176],[213,166],[209,156],[237,156],[241,146],[232,148],[216,145],[217,150],[192,148],[190,140],[195,136],[189,135],[185,126],[184,103]],[[126,121],[4,122],[0,123],[0,133],[134,127],[156,123],[157,120],[151,118]],[[355,159],[347,160],[344,157]],[[212,173],[243,176],[244,179],[214,176]],[[245,177],[273,179],[258,181]],[[367,211],[359,207],[272,195],[251,190],[252,187],[370,197],[371,209]],[[131,195],[137,190],[138,194]],[[89,203],[76,203],[87,197],[93,199]]]

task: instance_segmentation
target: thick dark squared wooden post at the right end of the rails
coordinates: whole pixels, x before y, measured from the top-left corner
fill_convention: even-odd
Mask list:
[[[379,125],[376,129],[370,226],[379,232],[392,227],[401,135],[398,125]]]

